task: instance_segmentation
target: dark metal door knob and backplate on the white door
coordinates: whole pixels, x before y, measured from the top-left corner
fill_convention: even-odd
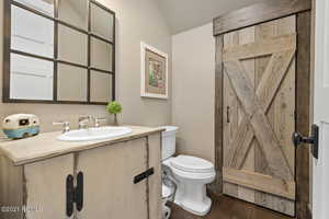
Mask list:
[[[293,134],[293,142],[295,147],[300,143],[307,143],[311,146],[311,154],[314,158],[319,158],[319,127],[317,125],[311,126],[311,136],[304,137],[302,134],[295,131]]]

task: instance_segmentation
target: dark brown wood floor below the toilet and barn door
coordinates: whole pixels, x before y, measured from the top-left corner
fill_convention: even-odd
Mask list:
[[[171,204],[170,219],[292,219],[291,217],[258,207],[228,196],[211,195],[213,205],[205,217],[194,216]]]

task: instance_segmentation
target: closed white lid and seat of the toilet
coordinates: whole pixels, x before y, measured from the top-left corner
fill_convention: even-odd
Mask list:
[[[170,164],[184,172],[192,173],[211,173],[214,171],[213,163],[191,155],[178,155],[172,159]]]

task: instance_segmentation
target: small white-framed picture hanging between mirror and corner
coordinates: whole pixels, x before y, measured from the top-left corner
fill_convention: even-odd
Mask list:
[[[168,99],[168,55],[140,43],[143,97]]]

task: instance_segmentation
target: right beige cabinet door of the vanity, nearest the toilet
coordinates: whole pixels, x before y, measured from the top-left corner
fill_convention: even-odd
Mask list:
[[[83,208],[78,218],[147,219],[147,181],[133,183],[146,169],[146,138],[80,152],[77,173],[83,173]]]

